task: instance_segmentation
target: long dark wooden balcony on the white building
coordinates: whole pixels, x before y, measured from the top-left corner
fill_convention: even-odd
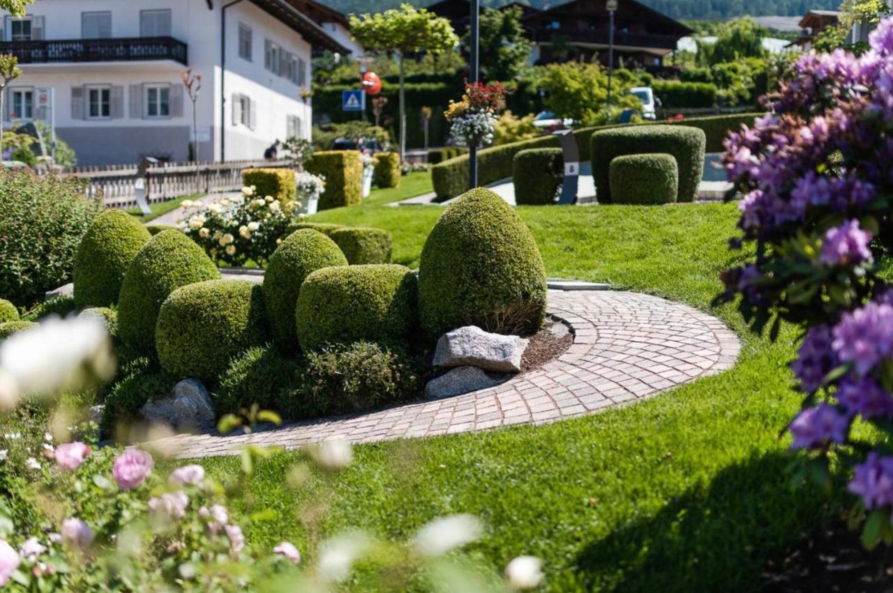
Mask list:
[[[172,60],[188,65],[187,45],[173,37],[3,41],[0,54],[13,54],[21,64]]]

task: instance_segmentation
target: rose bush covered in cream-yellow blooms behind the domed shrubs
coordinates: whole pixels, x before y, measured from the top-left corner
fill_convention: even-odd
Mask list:
[[[305,180],[304,185],[313,184]],[[313,191],[317,188],[312,187]],[[272,196],[256,195],[252,186],[243,187],[239,195],[224,195],[209,203],[186,201],[182,206],[186,212],[180,223],[183,232],[215,262],[238,267],[249,261],[258,266],[266,263],[300,202],[283,204]]]

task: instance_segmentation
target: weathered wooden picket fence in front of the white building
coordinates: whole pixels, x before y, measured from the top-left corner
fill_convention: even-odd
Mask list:
[[[226,161],[199,163],[158,163],[146,169],[146,200],[167,202],[196,192],[232,192],[242,187],[242,171],[255,167],[288,167],[290,161]],[[137,205],[138,165],[84,167],[71,172],[88,179],[89,197],[102,198],[106,208]]]

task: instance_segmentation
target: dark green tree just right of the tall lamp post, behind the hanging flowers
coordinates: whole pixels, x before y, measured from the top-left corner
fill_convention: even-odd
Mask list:
[[[488,80],[511,80],[518,78],[530,57],[533,44],[527,38],[521,24],[524,12],[521,6],[512,6],[502,11],[492,8],[480,15],[480,54],[481,78]],[[471,47],[471,33],[465,33],[463,45]]]

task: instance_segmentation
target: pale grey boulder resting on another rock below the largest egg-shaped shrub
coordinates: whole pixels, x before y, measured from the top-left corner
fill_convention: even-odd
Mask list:
[[[434,352],[435,367],[480,367],[496,373],[517,373],[529,340],[490,334],[476,325],[443,334]]]

